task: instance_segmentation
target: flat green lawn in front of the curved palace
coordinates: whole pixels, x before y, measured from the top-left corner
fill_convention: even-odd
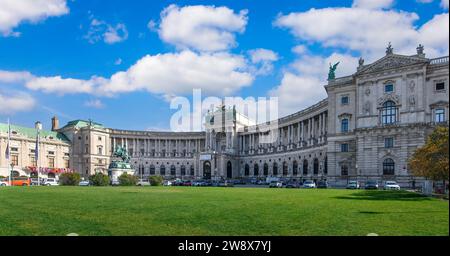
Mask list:
[[[0,188],[0,235],[449,235],[448,201],[409,192]]]

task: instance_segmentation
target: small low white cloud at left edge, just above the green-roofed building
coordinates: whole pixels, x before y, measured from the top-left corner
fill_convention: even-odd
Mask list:
[[[29,111],[35,105],[35,99],[27,93],[2,93],[0,91],[0,114],[11,115],[16,112]]]

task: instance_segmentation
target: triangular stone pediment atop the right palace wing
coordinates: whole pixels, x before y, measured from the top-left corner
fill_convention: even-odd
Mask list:
[[[362,66],[357,74],[367,74],[404,66],[428,63],[428,59],[417,56],[389,54],[372,64]]]

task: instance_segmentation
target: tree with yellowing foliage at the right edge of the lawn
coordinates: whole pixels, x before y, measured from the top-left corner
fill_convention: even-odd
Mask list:
[[[438,126],[428,136],[426,144],[414,152],[408,162],[414,175],[444,181],[444,184],[448,181],[448,132],[448,127]]]

